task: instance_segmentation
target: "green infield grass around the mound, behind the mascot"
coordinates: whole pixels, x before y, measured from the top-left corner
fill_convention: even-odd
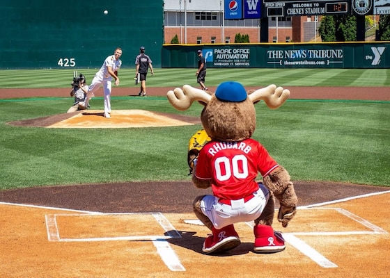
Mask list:
[[[113,99],[115,109],[198,117],[168,101]],[[6,124],[65,113],[71,99],[0,102],[0,188],[120,181],[189,180],[189,138],[201,125],[147,129],[42,129]],[[102,100],[94,106],[102,108]],[[293,180],[390,184],[390,103],[290,101],[256,106],[259,140]],[[102,140],[107,138],[107,140]],[[162,143],[169,142],[169,143]],[[81,155],[75,155],[75,146]],[[86,163],[93,161],[93,163]],[[102,167],[109,165],[109,167]],[[377,174],[378,172],[382,174]]]

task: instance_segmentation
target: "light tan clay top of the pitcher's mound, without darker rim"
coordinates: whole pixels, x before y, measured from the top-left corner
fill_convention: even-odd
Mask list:
[[[157,127],[157,126],[185,126],[194,122],[178,120],[169,114],[153,113],[145,110],[113,110],[111,117],[104,117],[101,110],[80,111],[68,119],[47,126],[61,129],[99,129],[99,128],[129,128],[129,127]]]

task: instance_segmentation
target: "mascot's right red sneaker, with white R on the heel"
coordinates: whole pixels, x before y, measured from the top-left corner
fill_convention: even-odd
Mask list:
[[[253,252],[255,253],[276,253],[286,249],[284,238],[279,231],[274,231],[271,226],[257,225],[253,227],[255,234],[255,244]]]

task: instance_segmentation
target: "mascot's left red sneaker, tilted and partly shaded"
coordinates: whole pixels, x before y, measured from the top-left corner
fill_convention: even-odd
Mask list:
[[[205,239],[202,251],[205,254],[226,252],[237,247],[240,243],[240,238],[233,224],[222,229],[212,227],[212,235]]]

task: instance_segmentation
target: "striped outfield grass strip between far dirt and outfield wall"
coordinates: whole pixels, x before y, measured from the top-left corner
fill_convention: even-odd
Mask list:
[[[81,69],[90,83],[96,69]],[[148,87],[196,85],[195,69],[155,69]],[[120,86],[134,86],[134,69],[119,71]],[[70,88],[73,70],[2,70],[0,88]],[[390,69],[208,69],[206,85],[239,81],[246,86],[390,86]]]

